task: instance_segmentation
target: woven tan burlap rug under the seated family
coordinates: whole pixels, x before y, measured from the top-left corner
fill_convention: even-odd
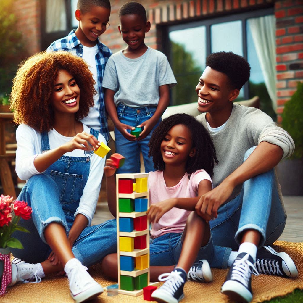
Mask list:
[[[252,302],[262,302],[283,296],[292,292],[295,288],[303,289],[303,243],[291,243],[276,241],[273,245],[276,251],[285,251],[294,260],[299,275],[296,279],[280,278],[269,275],[252,277],[252,289],[254,292]],[[225,295],[220,293],[221,285],[224,282],[228,270],[212,269],[214,281],[212,283],[198,283],[188,281],[184,287],[185,299],[182,302],[203,303],[203,302],[229,302]],[[89,270],[90,274],[103,287],[116,283],[107,279],[101,274],[100,265],[95,265]],[[8,289],[7,294],[0,298],[0,302],[9,303],[68,303],[74,302],[69,295],[68,279],[66,277],[52,276],[43,279],[39,284],[18,284]],[[101,294],[92,303],[101,302],[147,302],[143,296],[131,297],[117,295],[108,297],[107,292]]]

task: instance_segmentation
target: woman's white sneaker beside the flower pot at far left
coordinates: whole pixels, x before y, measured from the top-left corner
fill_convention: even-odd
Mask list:
[[[26,263],[21,259],[15,258],[12,261],[12,281],[8,286],[16,283],[39,283],[41,278],[37,275],[35,264]]]

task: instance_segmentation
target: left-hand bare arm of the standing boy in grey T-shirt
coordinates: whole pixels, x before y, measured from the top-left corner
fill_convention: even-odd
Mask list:
[[[115,124],[115,127],[118,129],[121,134],[128,139],[129,141],[135,141],[137,138],[134,135],[131,135],[127,132],[127,129],[135,129],[134,126],[130,126],[124,123],[121,123],[118,119],[117,109],[114,103],[115,91],[106,88],[105,89],[105,108],[108,115],[111,117],[112,122]]]

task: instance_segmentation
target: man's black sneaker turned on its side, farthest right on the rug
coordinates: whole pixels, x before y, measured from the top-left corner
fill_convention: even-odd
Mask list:
[[[259,274],[296,278],[298,270],[294,261],[286,252],[276,252],[270,246],[263,246],[257,251],[256,268]]]

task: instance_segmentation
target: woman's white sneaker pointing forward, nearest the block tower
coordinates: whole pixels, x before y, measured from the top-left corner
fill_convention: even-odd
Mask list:
[[[64,270],[68,276],[72,298],[79,303],[102,294],[102,286],[88,274],[87,267],[83,266],[77,259],[71,259],[68,262],[70,261],[72,264],[70,263],[68,268],[65,265]]]

